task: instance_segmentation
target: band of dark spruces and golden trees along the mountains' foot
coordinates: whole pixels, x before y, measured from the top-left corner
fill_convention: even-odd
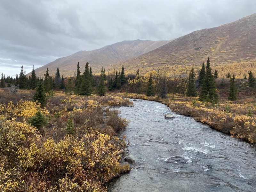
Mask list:
[[[236,78],[234,75],[231,76],[230,72],[226,74],[226,77],[230,80],[228,99],[236,100]],[[85,65],[83,73],[80,70],[78,62],[76,76],[74,77],[61,77],[59,68],[56,69],[55,76],[49,76],[49,70],[47,68],[44,77],[37,77],[34,67],[31,76],[27,77],[23,67],[21,67],[20,75],[16,75],[16,78],[10,76],[5,77],[2,74],[0,87],[4,87],[6,84],[7,86],[14,84],[19,85],[20,89],[35,89],[38,82],[42,82],[44,92],[50,92],[53,89],[62,89],[68,94],[75,93],[76,95],[89,96],[95,93],[103,96],[107,91],[122,89],[124,92],[144,93],[148,96],[158,95],[162,98],[167,97],[168,93],[185,93],[187,96],[199,96],[200,101],[217,103],[218,94],[215,83],[215,79],[217,78],[218,70],[212,71],[209,58],[206,66],[203,62],[197,77],[194,66],[192,66],[188,78],[181,76],[176,78],[170,77],[166,75],[165,71],[159,70],[152,70],[141,76],[139,69],[136,74],[126,76],[124,66],[121,72],[114,70],[114,73],[108,72],[108,75],[106,75],[105,69],[101,68],[100,76],[94,76],[88,62]],[[247,79],[247,77],[244,76],[244,79]],[[224,86],[224,78],[221,78],[220,85]],[[248,73],[248,86],[256,86],[256,80],[252,71]]]

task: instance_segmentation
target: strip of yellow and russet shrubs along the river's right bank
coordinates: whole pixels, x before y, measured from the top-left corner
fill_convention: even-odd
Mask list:
[[[167,99],[134,93],[118,93],[118,95],[161,102],[178,114],[194,117],[215,130],[230,134],[231,137],[256,144],[256,107],[252,104],[222,101],[212,105],[181,94],[170,95]]]

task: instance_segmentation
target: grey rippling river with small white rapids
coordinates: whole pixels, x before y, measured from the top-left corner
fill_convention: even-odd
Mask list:
[[[118,110],[130,120],[123,134],[135,164],[109,191],[256,191],[256,150],[249,143],[154,101]]]

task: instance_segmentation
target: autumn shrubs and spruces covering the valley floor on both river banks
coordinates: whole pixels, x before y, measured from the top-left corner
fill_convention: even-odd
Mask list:
[[[214,72],[213,72],[214,71]],[[107,191],[106,183],[128,164],[122,131],[128,121],[107,106],[127,106],[125,98],[160,101],[171,110],[192,116],[232,137],[256,143],[256,81],[252,71],[243,78],[204,63],[174,77],[168,71],[144,75],[101,69],[76,76],[1,76],[0,190]],[[232,70],[229,70],[232,72]],[[229,74],[229,75],[228,75]],[[246,77],[247,75],[247,77]],[[221,77],[221,78],[220,78]],[[19,89],[17,89],[19,87]],[[106,109],[105,109],[106,108]],[[118,136],[118,137],[117,137]]]

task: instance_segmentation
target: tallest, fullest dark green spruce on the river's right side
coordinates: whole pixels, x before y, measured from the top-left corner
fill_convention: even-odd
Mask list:
[[[206,64],[206,71],[204,74],[199,100],[213,103],[218,102],[218,95],[216,93],[216,85],[212,75],[212,68],[210,67],[209,57]]]

